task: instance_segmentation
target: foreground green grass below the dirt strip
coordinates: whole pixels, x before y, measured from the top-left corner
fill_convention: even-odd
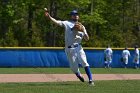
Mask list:
[[[0,83],[1,93],[140,93],[140,81],[96,81],[96,86],[82,82]]]

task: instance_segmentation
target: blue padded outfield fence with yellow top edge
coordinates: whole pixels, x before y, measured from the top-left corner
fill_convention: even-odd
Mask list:
[[[104,48],[85,48],[91,67],[104,67]],[[122,49],[113,49],[112,67],[122,67]],[[133,67],[134,50],[130,50],[129,67]],[[0,67],[69,67],[63,48],[0,48]]]

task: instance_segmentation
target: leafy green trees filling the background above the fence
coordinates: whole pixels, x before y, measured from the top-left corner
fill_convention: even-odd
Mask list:
[[[69,20],[76,9],[90,40],[86,47],[140,45],[139,0],[1,0],[0,46],[64,46],[64,28],[44,16]]]

